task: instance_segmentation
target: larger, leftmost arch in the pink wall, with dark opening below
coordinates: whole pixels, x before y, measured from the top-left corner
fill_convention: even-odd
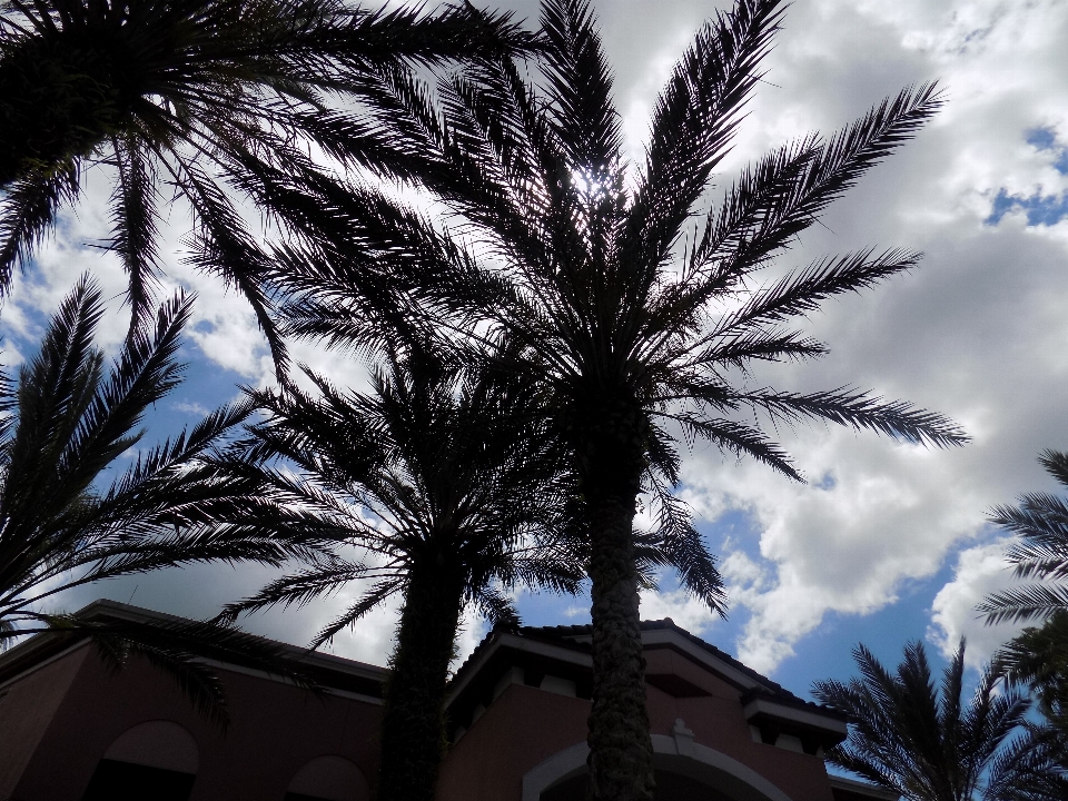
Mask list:
[[[186,801],[200,764],[200,751],[184,726],[147,721],[117,736],[89,781],[82,801]]]

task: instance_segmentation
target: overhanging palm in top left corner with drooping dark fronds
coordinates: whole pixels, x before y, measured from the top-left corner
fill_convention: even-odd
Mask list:
[[[365,72],[531,44],[508,16],[469,4],[425,14],[343,0],[4,0],[0,294],[77,200],[82,170],[109,164],[111,248],[129,274],[135,322],[151,312],[169,184],[194,211],[192,260],[246,297],[283,368],[265,257],[227,188],[299,229],[307,198],[295,179],[317,171],[312,148],[386,168],[377,131],[339,102]]]

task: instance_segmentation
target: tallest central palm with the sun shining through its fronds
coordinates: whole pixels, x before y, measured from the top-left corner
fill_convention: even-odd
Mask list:
[[[457,338],[501,334],[521,346],[513,366],[536,376],[550,398],[552,431],[583,500],[593,587],[590,764],[600,799],[651,797],[633,520],[643,488],[654,507],[672,503],[678,437],[797,479],[789,455],[753,424],[755,413],[918,444],[966,439],[945,417],[849,387],[800,394],[735,380],[753,364],[823,354],[787,322],[916,266],[916,254],[866,249],[770,286],[753,279],[940,105],[931,86],[907,89],[829,139],[783,146],[746,169],[689,239],[781,14],[778,0],[738,0],[698,32],[660,96],[634,174],[585,0],[543,2],[545,44],[530,70],[508,56],[484,58],[436,91],[382,70],[368,90],[372,119],[392,125],[386,142],[451,210],[452,231],[373,189],[338,191],[326,214],[342,244],[324,239],[279,260],[301,295],[288,308],[294,335],[360,345],[380,304],[354,294],[352,281],[377,268],[383,295],[417,301]],[[465,244],[452,237],[457,231]]]

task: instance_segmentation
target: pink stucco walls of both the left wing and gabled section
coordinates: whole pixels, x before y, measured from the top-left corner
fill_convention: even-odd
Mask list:
[[[647,673],[673,674],[706,695],[675,698],[647,689],[652,733],[671,735],[678,719],[694,742],[756,771],[792,801],[832,801],[822,759],[754,742],[742,690],[670,647],[645,653]],[[280,801],[309,760],[352,760],[374,785],[380,705],[219,669],[233,724],[224,735],[141,661],[108,672],[91,646],[79,647],[8,685],[0,700],[0,801],[79,801],[108,745],[134,725],[170,720],[199,748],[190,801]],[[525,684],[507,685],[449,750],[438,801],[520,801],[525,773],[583,743],[590,702]]]

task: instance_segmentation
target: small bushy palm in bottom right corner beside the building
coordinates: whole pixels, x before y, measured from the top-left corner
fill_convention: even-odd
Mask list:
[[[812,694],[849,715],[849,739],[827,760],[909,801],[1054,801],[1068,774],[1050,732],[1027,722],[1019,691],[983,671],[965,703],[965,643],[942,673],[939,692],[923,644],[910,643],[896,673],[863,645],[853,650],[859,679],[817,682]]]

